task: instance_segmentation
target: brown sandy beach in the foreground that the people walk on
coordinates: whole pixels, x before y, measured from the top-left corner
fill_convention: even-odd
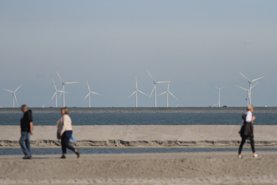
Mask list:
[[[276,184],[276,152],[0,156],[0,184]]]

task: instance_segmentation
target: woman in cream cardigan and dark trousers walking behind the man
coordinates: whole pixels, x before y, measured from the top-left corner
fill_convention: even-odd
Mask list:
[[[62,157],[66,158],[66,148],[72,150],[77,154],[77,158],[80,156],[80,151],[75,149],[73,146],[69,144],[69,139],[72,135],[72,124],[71,124],[71,118],[68,116],[68,109],[62,108],[61,109],[62,117],[57,122],[57,137],[58,139],[61,138],[62,143]]]

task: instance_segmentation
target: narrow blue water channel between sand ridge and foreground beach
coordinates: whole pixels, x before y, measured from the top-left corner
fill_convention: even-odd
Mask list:
[[[170,152],[229,152],[237,148],[79,148],[82,154],[124,154],[124,153],[170,153]],[[74,154],[66,150],[67,154]],[[243,151],[252,151],[244,147]],[[256,148],[256,151],[277,151],[277,148]],[[33,155],[62,154],[61,148],[32,148]],[[23,155],[21,148],[0,149],[0,155]]]

